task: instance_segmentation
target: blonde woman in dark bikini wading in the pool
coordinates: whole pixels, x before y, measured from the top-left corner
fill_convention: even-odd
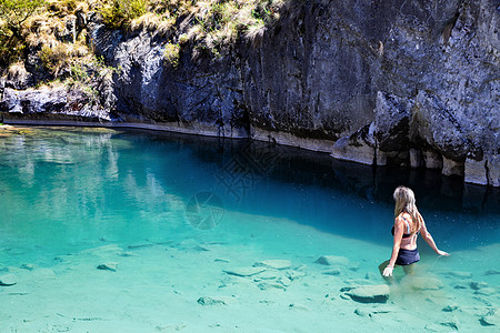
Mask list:
[[[420,215],[417,205],[414,204],[414,194],[408,188],[398,186],[393,194],[394,206],[394,226],[392,226],[392,234],[394,235],[394,245],[392,246],[391,259],[382,263],[379,269],[383,276],[392,276],[392,270],[396,265],[402,265],[406,273],[411,270],[411,264],[420,260],[417,250],[417,236],[420,233],[423,240],[436,251],[439,255],[450,255],[436,246],[429,231],[427,231],[426,223],[422,215]]]

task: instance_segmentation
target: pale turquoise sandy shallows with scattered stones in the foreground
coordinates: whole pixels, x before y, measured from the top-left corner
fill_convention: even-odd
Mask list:
[[[186,230],[138,243],[102,239],[100,246],[61,253],[53,265],[22,262],[19,254],[19,265],[0,273],[3,283],[16,283],[0,286],[0,332],[498,332],[500,326],[499,244],[450,258],[423,251],[412,275],[397,272],[384,300],[378,264],[388,259],[390,244],[229,212],[212,230]],[[333,255],[330,264],[316,262],[323,255]],[[351,297],[362,285],[378,285],[382,301]]]

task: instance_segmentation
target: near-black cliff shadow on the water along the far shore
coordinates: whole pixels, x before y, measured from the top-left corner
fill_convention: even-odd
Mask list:
[[[189,149],[203,163],[223,169],[241,154],[239,162],[272,163],[259,173],[256,182],[274,180],[300,185],[317,185],[354,193],[370,202],[392,205],[392,192],[398,185],[411,188],[422,210],[456,211],[470,214],[500,214],[500,190],[464,183],[461,178],[443,176],[439,170],[362,165],[332,159],[327,153],[283,147],[259,141],[223,140],[179,133],[130,131],[176,142]],[[128,134],[130,134],[128,132]],[[253,155],[242,151],[254,150]],[[273,154],[274,158],[262,157]],[[247,158],[248,157],[248,158]],[[262,161],[258,159],[262,158]],[[253,159],[253,160],[252,160]],[[267,159],[267,160],[266,160]],[[244,167],[244,165],[243,165]],[[256,176],[256,178],[257,178]]]

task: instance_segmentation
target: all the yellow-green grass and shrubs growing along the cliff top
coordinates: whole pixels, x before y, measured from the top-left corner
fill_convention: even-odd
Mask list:
[[[96,59],[87,30],[68,26],[71,16],[98,11],[110,29],[148,31],[164,46],[166,65],[178,68],[183,48],[197,60],[221,57],[237,40],[257,46],[289,0],[0,0],[0,71],[37,82],[90,83],[118,69]],[[74,20],[74,17],[73,17]],[[74,29],[74,28],[72,28]]]

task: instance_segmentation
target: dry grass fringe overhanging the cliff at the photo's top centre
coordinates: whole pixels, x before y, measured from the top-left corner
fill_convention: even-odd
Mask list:
[[[286,0],[101,0],[99,9],[111,29],[147,30],[168,41],[166,61],[177,67],[178,48],[192,42],[193,58],[221,50],[244,38],[258,46],[280,18]],[[170,46],[170,47],[169,47]]]

